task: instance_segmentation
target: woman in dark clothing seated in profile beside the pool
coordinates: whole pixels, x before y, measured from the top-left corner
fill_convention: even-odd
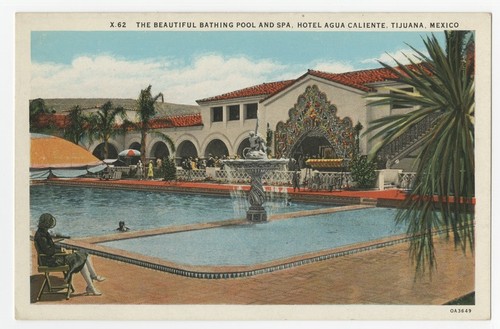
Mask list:
[[[56,219],[49,213],[42,214],[38,220],[38,230],[35,233],[35,246],[36,250],[47,255],[44,265],[47,266],[61,266],[69,265],[69,272],[66,274],[64,280],[69,281],[71,275],[80,272],[87,283],[86,292],[88,295],[100,296],[102,293],[97,290],[93,281],[104,281],[105,278],[96,274],[90,256],[84,252],[75,251],[68,253],[64,257],[57,256],[57,253],[65,252],[64,248],[55,245],[49,229],[56,226]]]

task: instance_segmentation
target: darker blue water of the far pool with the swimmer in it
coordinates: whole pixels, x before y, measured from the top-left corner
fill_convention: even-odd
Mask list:
[[[245,203],[246,200],[243,201],[246,208]],[[295,202],[286,206],[280,198],[266,203],[269,215],[321,207]],[[119,221],[139,231],[242,218],[245,215],[241,208],[241,199],[221,196],[49,185],[30,187],[30,229],[35,231],[40,215],[49,212],[57,219],[53,233],[73,238],[115,233]]]

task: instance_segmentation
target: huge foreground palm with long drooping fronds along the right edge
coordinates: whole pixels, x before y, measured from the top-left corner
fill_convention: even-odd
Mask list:
[[[390,93],[371,105],[398,104],[415,110],[372,122],[367,132],[381,139],[377,151],[425,118],[433,117],[417,155],[416,180],[396,221],[406,222],[410,256],[417,273],[436,266],[433,235],[444,230],[463,252],[474,250],[474,34],[446,31],[443,49],[432,35],[425,38],[427,54],[417,51],[410,65],[381,63],[396,81],[414,92]],[[379,130],[380,129],[380,130]]]

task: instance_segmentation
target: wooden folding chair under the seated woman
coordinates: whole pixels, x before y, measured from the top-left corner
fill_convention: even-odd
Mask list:
[[[38,248],[36,249],[38,253]],[[55,254],[56,257],[64,257],[66,255],[67,255],[66,253]],[[62,273],[64,280],[64,277],[66,277],[66,274],[69,272],[69,265],[47,266],[45,261],[46,257],[47,255],[38,253],[38,273],[44,274],[44,280],[42,283],[42,287],[38,292],[36,300],[39,301],[43,294],[65,294],[66,299],[69,299],[71,293],[75,292],[75,289],[73,287],[73,276],[70,275],[68,282],[67,283],[65,282],[62,285],[54,285],[50,277],[52,273]]]

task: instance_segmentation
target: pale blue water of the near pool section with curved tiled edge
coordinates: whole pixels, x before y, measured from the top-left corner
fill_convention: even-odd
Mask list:
[[[394,209],[370,208],[101,245],[194,266],[254,265],[403,234]]]

